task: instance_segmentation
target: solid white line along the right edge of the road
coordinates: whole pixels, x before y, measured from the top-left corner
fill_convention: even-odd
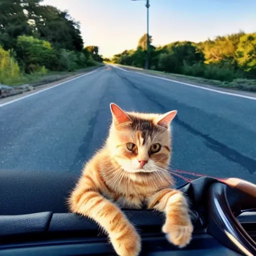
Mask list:
[[[180,81],[176,81],[176,80],[172,80],[169,78],[164,78],[164,77],[160,77],[160,76],[155,76],[155,75],[151,75],[151,74],[144,74],[144,73],[140,73],[140,72],[136,72],[136,71],[130,71],[130,70],[125,70],[119,66],[116,65],[111,65],[115,68],[119,68],[125,72],[132,72],[132,73],[137,73],[137,74],[142,74],[145,76],[149,76],[149,77],[153,77],[153,78],[158,78],[158,79],[162,79],[162,80],[166,80],[166,81],[171,81],[171,82],[176,82],[176,83],[180,83],[183,85],[187,85],[187,86],[191,86],[191,87],[195,87],[195,88],[199,88],[199,89],[203,89],[203,90],[210,90],[210,91],[214,91],[217,93],[221,93],[221,94],[226,94],[226,95],[231,95],[231,96],[236,96],[236,97],[241,97],[241,98],[248,98],[248,99],[252,99],[252,100],[256,100],[256,96],[252,97],[252,96],[247,96],[247,95],[242,95],[242,94],[237,94],[237,93],[233,93],[233,92],[227,92],[227,91],[222,91],[222,90],[217,90],[217,89],[212,89],[212,88],[207,88],[207,87],[202,87],[199,85],[195,85],[195,84],[191,84],[191,83],[187,83],[187,82],[180,82]]]

